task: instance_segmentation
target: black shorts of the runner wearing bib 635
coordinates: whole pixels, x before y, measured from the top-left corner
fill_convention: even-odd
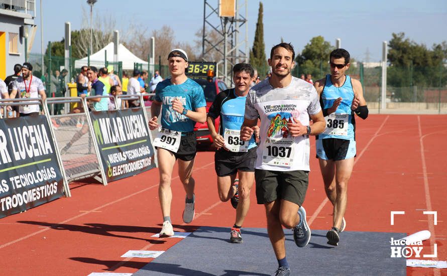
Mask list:
[[[238,171],[254,172],[255,163],[256,147],[241,153],[220,149],[214,155],[214,168],[217,176],[221,177],[235,175]]]

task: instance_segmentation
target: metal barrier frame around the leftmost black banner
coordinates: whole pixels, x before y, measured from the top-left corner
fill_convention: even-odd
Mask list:
[[[54,129],[52,127],[52,120],[50,118],[50,113],[48,110],[48,106],[47,106],[47,101],[43,101],[40,98],[20,98],[20,99],[0,99],[0,106],[19,106],[19,105],[23,105],[24,103],[26,103],[27,105],[41,105],[44,111],[44,115],[47,118],[47,122],[48,125],[50,127],[50,133],[53,137],[55,137],[55,133],[54,133]],[[5,115],[6,115],[6,108],[4,108],[5,110]],[[68,181],[67,181],[67,176],[65,174],[65,170],[63,167],[63,163],[62,163],[62,158],[61,158],[61,151],[59,149],[59,145],[58,143],[54,143],[54,147],[56,150],[56,157],[57,157],[57,163],[59,165],[59,168],[61,168],[61,173],[62,173],[62,178],[63,178],[63,185],[64,185],[64,192],[65,192],[65,196],[70,197],[71,193],[70,193],[70,188],[68,187]]]

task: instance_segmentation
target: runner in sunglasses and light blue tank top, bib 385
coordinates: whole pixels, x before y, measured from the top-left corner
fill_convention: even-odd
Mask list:
[[[315,82],[326,129],[316,137],[316,155],[327,198],[333,205],[333,227],[327,232],[328,244],[337,246],[339,233],[345,230],[344,218],[348,181],[356,156],[356,120],[368,116],[360,81],[345,75],[350,55],[345,49],[333,50],[329,55],[330,75]]]

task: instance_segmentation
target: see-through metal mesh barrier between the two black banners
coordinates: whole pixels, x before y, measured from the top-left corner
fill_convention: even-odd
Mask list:
[[[94,139],[93,129],[89,123],[87,108],[81,97],[47,98],[47,104],[80,104],[79,112],[62,115],[50,115],[56,144],[61,149],[63,170],[68,182],[93,177],[103,185],[107,180],[99,159],[99,151]]]

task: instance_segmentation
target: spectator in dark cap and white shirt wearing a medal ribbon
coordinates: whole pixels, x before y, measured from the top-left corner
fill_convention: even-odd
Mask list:
[[[10,97],[15,98],[17,93],[19,93],[20,98],[38,98],[39,96],[42,100],[47,98],[42,80],[33,78],[33,65],[31,63],[25,62],[22,65],[22,76],[13,82],[13,91]],[[26,102],[19,108],[21,117],[38,115],[39,111],[39,104],[27,104]]]

